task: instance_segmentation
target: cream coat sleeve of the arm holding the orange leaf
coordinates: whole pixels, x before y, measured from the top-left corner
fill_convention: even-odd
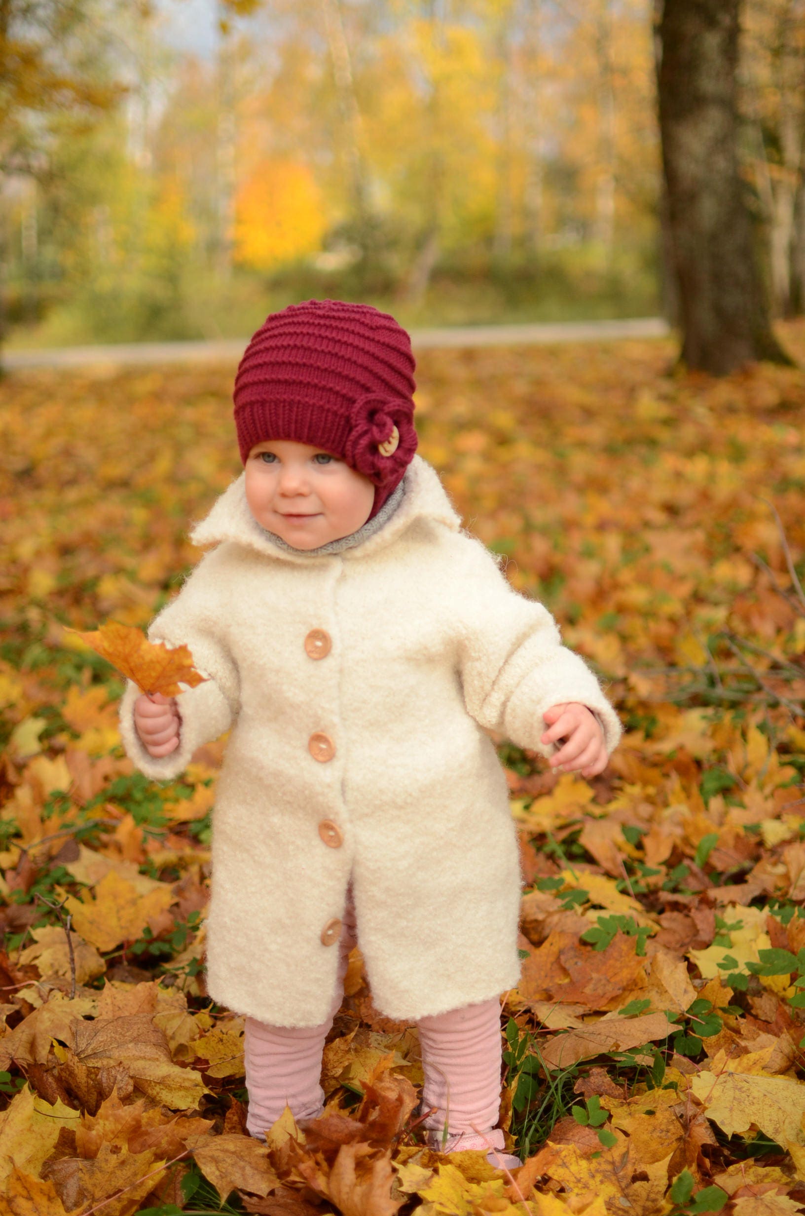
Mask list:
[[[164,642],[169,648],[185,643],[193,665],[208,679],[196,687],[185,687],[176,697],[181,717],[179,747],[164,756],[152,756],[140,741],[134,725],[134,704],[140,689],[126,681],[120,699],[120,737],[133,764],[154,781],[178,777],[187,767],[202,743],[216,739],[230,728],[240,711],[240,675],[226,638],[225,614],[215,595],[218,562],[215,551],[204,554],[186,579],[181,591],[159,612],[148,626],[150,642]]]

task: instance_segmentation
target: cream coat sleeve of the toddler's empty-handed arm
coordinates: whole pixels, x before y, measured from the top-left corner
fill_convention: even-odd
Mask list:
[[[562,644],[547,608],[514,591],[479,540],[460,539],[468,546],[458,647],[467,713],[479,726],[547,756],[557,745],[540,742],[542,714],[561,702],[579,702],[596,714],[610,753],[621,725],[593,672]]]

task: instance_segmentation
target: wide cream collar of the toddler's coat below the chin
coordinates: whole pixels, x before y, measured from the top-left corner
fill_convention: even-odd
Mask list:
[[[343,551],[344,559],[365,557],[396,540],[415,519],[433,519],[454,531],[461,530],[461,517],[452,507],[439,474],[421,456],[415,456],[404,477],[405,496],[394,514],[373,535],[360,545]],[[246,501],[246,472],[241,473],[213,503],[209,513],[190,531],[190,541],[198,548],[233,541],[257,550],[280,562],[308,563],[327,561],[331,554],[313,557],[280,548],[260,528]]]

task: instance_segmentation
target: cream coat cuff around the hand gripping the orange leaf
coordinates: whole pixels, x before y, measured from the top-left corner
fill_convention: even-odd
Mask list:
[[[136,769],[152,781],[171,781],[185,771],[193,753],[203,743],[216,739],[229,730],[232,710],[214,680],[208,679],[195,688],[186,688],[176,697],[181,716],[179,747],[164,756],[152,756],[142,745],[134,725],[134,703],[141,696],[133,680],[120,698],[119,727],[123,748]]]

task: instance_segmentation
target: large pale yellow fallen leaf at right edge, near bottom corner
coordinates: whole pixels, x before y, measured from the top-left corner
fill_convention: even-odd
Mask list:
[[[732,1060],[725,1060],[725,1069],[732,1066]],[[708,1119],[727,1136],[748,1132],[754,1125],[777,1144],[787,1141],[805,1144],[805,1085],[799,1081],[753,1073],[703,1070],[691,1077],[691,1090],[703,1104]]]

